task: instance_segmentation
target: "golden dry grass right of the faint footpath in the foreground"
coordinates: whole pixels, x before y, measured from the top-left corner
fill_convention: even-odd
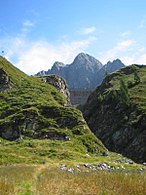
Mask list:
[[[47,194],[137,194],[146,192],[146,175],[116,172],[71,174],[44,170],[37,180],[37,195]]]

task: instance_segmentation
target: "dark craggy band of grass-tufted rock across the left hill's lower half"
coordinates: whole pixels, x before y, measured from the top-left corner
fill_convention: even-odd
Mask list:
[[[38,106],[0,120],[0,137],[10,141],[50,139],[75,141],[87,152],[105,155],[107,149],[90,131],[81,112],[64,106]]]

